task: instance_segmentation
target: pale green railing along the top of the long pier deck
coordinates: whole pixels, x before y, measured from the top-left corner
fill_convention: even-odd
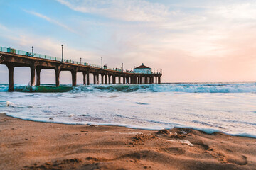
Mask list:
[[[41,58],[41,59],[48,59],[48,60],[54,60],[54,61],[58,61],[58,62],[62,62],[62,59],[59,58],[59,57],[52,57],[52,56],[49,56],[49,55],[41,55],[41,54],[38,54],[38,53],[33,53],[32,52],[26,52],[26,51],[23,51],[23,50],[16,50],[14,48],[7,48],[7,47],[1,47],[0,46],[0,51],[1,52],[8,52],[8,53],[12,53],[12,54],[16,54],[16,55],[25,55],[25,56],[28,56],[28,57],[36,57],[36,58]],[[90,67],[96,67],[96,68],[102,68],[100,65],[97,65],[97,64],[90,64],[90,63],[87,63],[87,62],[76,62],[74,60],[67,60],[65,59],[63,62],[67,62],[67,63],[71,63],[71,64],[80,64],[80,65],[85,65],[85,66],[90,66]],[[119,69],[119,68],[115,68],[115,67],[103,67],[103,69],[109,69],[109,70],[113,70],[113,71],[117,71],[117,72],[127,72],[127,73],[134,73],[134,71],[129,71],[127,69],[123,70],[123,69]],[[152,73],[151,73],[152,74]],[[160,73],[154,73],[154,74],[160,74]]]

